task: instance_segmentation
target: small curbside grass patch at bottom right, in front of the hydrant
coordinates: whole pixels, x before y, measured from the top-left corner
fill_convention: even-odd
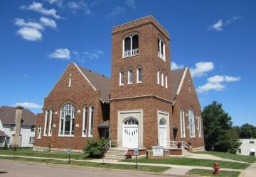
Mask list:
[[[239,176],[240,172],[238,171],[220,171],[218,175],[213,174],[212,170],[204,169],[192,169],[188,171],[188,175],[193,176],[225,176],[225,177],[236,177]]]

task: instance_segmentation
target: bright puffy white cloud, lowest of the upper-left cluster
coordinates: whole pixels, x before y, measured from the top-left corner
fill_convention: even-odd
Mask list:
[[[22,27],[17,31],[17,34],[21,35],[23,39],[31,41],[41,40],[43,38],[40,30],[36,28]]]

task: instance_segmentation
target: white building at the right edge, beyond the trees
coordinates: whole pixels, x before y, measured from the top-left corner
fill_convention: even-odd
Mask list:
[[[255,156],[256,139],[240,139],[242,143],[238,148],[238,154],[245,156]]]

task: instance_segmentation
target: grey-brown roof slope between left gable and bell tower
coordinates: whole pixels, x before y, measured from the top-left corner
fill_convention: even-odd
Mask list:
[[[80,67],[77,64],[75,64],[75,67],[82,72],[85,79],[89,82],[93,89],[100,91],[100,99],[104,103],[110,103],[110,78],[102,74],[92,72],[89,69]]]

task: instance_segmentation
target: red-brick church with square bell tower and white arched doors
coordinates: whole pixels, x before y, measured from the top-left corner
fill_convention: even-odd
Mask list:
[[[169,42],[152,16],[114,27],[112,77],[70,63],[37,115],[34,149],[82,150],[100,137],[124,149],[204,149],[193,79],[171,71]]]

